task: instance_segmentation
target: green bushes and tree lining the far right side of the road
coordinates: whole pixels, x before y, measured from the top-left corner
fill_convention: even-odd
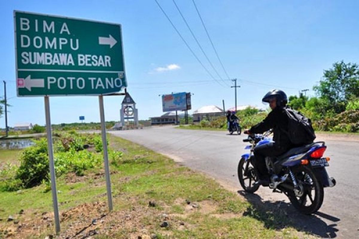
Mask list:
[[[359,66],[337,62],[325,70],[322,80],[313,87],[317,97],[303,94],[289,96],[288,105],[312,120],[316,131],[359,132]],[[267,112],[247,108],[237,112],[242,128],[250,128],[265,118]],[[199,124],[180,126],[185,129],[227,128],[225,116],[202,120]]]

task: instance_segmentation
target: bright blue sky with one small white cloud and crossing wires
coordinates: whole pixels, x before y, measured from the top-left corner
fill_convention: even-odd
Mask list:
[[[192,111],[204,105],[234,106],[232,82],[220,65],[192,0],[176,0],[220,77],[197,46],[171,0],[158,0],[173,24],[210,71],[188,50],[155,0],[34,1],[0,3],[0,96],[7,82],[9,126],[45,124],[43,97],[16,97],[13,10],[106,21],[122,25],[128,91],[139,119],[162,113],[161,97],[191,92]],[[288,95],[310,89],[334,62],[358,63],[359,1],[195,0],[230,78],[237,78],[237,105],[261,104],[273,88]],[[220,83],[214,80],[218,80]],[[277,86],[277,87],[276,87]],[[313,91],[307,95],[314,95]],[[121,96],[104,97],[105,119],[120,120]],[[52,123],[99,122],[98,97],[50,97]],[[4,117],[0,128],[4,128]]]

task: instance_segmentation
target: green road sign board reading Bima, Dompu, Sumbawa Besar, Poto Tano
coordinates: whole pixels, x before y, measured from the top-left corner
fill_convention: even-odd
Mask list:
[[[121,25],[14,11],[18,96],[127,87]]]

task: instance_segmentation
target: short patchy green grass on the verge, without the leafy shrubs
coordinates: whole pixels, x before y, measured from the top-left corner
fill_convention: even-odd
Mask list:
[[[116,164],[111,164],[110,169],[114,210],[106,216],[104,225],[97,225],[100,233],[94,238],[137,238],[137,235],[143,234],[156,234],[159,239],[304,237],[290,223],[278,226],[278,221],[288,222],[288,219],[282,218],[283,215],[257,209],[213,179],[135,143],[111,135],[109,139],[110,147],[121,149],[123,157]],[[8,156],[16,158],[18,153],[11,150]],[[103,169],[92,169],[86,174],[85,177],[78,177],[80,182],[75,183],[66,180],[69,175],[57,178],[61,215],[70,214],[71,210],[84,203],[97,201],[107,209]],[[42,212],[52,212],[51,191],[44,190],[45,185],[40,185],[18,192],[0,192],[0,218],[3,218],[0,221],[0,238],[1,229],[11,224],[4,220],[9,215],[15,216],[20,223],[34,220],[33,224],[39,225],[40,232],[29,238],[44,238],[52,233],[53,224],[47,228],[41,224],[43,220],[35,221]],[[186,200],[191,204],[188,205]],[[155,206],[149,207],[149,201],[154,201]],[[79,210],[72,218],[62,217],[62,233],[73,230],[71,224],[75,225],[79,218],[91,222],[91,210],[97,210],[93,207],[85,208],[89,212],[81,209],[83,214]],[[24,216],[18,216],[21,209],[25,212]],[[163,214],[169,215],[167,228],[160,227]],[[127,217],[133,221],[131,224],[129,220],[123,220]],[[180,221],[184,226],[180,225]],[[109,230],[109,225],[115,225],[114,229]],[[142,232],[144,229],[146,233]],[[24,234],[18,236],[21,238]]]

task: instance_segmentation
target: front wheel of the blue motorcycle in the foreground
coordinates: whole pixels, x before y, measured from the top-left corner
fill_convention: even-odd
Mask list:
[[[244,158],[239,160],[237,173],[239,183],[241,183],[244,191],[254,193],[258,190],[259,185],[254,185],[254,183],[258,180],[258,176],[250,159],[248,159],[247,162]]]

